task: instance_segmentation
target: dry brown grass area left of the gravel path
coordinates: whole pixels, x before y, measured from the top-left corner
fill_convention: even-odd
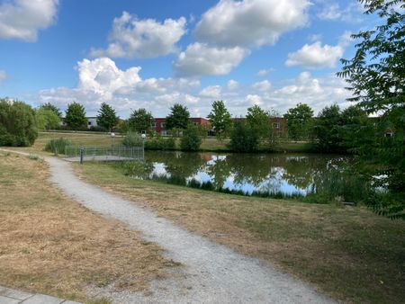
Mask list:
[[[41,161],[0,156],[0,285],[85,300],[89,286],[147,291],[165,275],[172,263],[158,246],[71,201],[47,177]]]

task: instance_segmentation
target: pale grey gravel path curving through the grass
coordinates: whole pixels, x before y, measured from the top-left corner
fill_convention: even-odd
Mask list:
[[[116,292],[112,287],[93,290],[93,294],[110,297],[114,303],[333,302],[269,264],[193,235],[136,202],[79,180],[65,161],[52,157],[45,160],[50,165],[51,182],[68,196],[90,210],[141,231],[145,239],[165,248],[168,258],[182,264],[174,267],[168,278],[151,283],[152,295]]]

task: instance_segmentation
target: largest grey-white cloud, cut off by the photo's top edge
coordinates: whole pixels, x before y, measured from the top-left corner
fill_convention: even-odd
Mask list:
[[[273,45],[284,32],[307,23],[309,5],[307,0],[220,0],[202,14],[195,36],[227,48]]]

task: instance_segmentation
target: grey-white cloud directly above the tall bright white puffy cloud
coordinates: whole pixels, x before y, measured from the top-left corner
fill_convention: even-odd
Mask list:
[[[184,17],[178,20],[138,20],[123,12],[112,22],[107,49],[92,49],[90,56],[111,58],[156,58],[176,51],[177,43],[186,32]]]

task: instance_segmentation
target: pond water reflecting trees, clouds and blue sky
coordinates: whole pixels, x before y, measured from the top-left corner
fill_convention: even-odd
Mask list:
[[[146,151],[148,178],[210,182],[215,189],[306,195],[350,161],[348,156]],[[333,181],[331,182],[333,183]]]

